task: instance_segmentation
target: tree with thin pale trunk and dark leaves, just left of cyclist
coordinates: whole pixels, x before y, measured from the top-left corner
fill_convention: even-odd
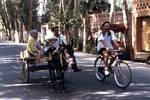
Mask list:
[[[105,0],[86,0],[86,1],[81,1],[80,2],[80,12],[82,14],[83,17],[83,26],[84,26],[84,35],[83,35],[83,51],[86,51],[86,47],[87,47],[87,36],[90,37],[91,44],[89,46],[92,46],[92,44],[94,44],[94,40],[92,37],[91,33],[86,32],[86,22],[85,22],[85,18],[88,14],[91,13],[104,13],[104,12],[108,12],[110,9],[110,4],[105,2]]]

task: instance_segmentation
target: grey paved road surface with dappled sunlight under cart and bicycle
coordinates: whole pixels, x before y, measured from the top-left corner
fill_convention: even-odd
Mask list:
[[[0,100],[150,100],[150,66],[128,62],[132,68],[132,84],[126,90],[118,88],[113,77],[99,82],[93,73],[95,55],[76,52],[78,66],[83,71],[66,72],[68,93],[59,93],[48,82],[48,71],[31,74],[31,83],[21,80],[17,62],[22,44],[0,41]]]

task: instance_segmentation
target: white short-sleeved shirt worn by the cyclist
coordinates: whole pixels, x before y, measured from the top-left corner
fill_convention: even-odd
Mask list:
[[[103,35],[103,33],[98,34],[98,45],[97,45],[97,51],[99,51],[101,48],[110,48],[113,49],[111,41],[117,40],[114,32],[110,30],[111,36],[107,36],[107,34]],[[106,46],[103,45],[102,40],[104,40]]]

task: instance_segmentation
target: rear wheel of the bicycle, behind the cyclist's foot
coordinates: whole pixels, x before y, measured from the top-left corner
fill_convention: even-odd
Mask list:
[[[95,62],[94,62],[94,72],[95,72],[95,75],[96,75],[96,78],[99,80],[99,81],[103,81],[106,76],[104,74],[104,61],[102,60],[102,57],[99,56],[96,58]]]

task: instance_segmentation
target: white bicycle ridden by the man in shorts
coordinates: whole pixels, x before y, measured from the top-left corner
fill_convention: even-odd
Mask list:
[[[130,69],[130,66],[124,62],[123,60],[120,60],[118,55],[121,54],[120,50],[111,50],[111,52],[115,53],[116,59],[114,63],[111,66],[111,72],[110,74],[113,74],[114,79],[118,87],[120,88],[127,88],[132,80],[132,72]],[[111,57],[109,57],[110,61]],[[99,55],[95,62],[94,62],[94,72],[96,75],[96,78],[99,81],[104,81],[106,77],[109,77],[109,75],[104,74],[105,64],[103,61],[103,56]]]

